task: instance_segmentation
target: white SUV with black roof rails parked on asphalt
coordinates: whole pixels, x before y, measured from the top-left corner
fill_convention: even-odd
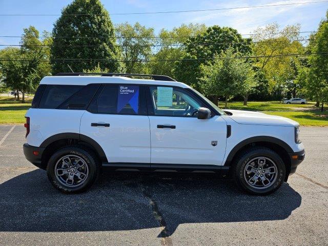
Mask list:
[[[100,172],[170,170],[229,172],[239,188],[263,195],[304,158],[291,119],[223,112],[167,76],[82,75],[44,77],[26,113],[25,156],[62,192],[86,190]]]

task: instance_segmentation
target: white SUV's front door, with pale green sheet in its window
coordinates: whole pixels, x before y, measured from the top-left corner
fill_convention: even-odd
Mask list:
[[[151,132],[151,164],[222,165],[227,124],[219,115],[198,119],[203,105],[189,91],[150,86],[146,92]]]

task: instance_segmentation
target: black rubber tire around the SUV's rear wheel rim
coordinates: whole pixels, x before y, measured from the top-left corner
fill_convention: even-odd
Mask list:
[[[81,183],[80,185],[77,184],[76,187],[70,187],[69,186],[70,184],[65,185],[60,181],[60,178],[57,178],[57,175],[55,173],[56,163],[57,162],[59,163],[60,159],[63,158],[64,156],[70,156],[70,155],[77,156],[77,158],[79,157],[80,159],[82,159],[81,161],[84,161],[84,165],[87,165],[87,169],[88,169],[88,174],[84,178],[83,183]],[[47,166],[47,175],[50,182],[57,190],[63,193],[80,193],[86,191],[93,185],[93,183],[99,176],[99,172],[100,172],[99,161],[95,156],[95,154],[92,151],[87,150],[81,146],[69,146],[57,150],[50,157]],[[70,174],[68,173],[67,175]]]

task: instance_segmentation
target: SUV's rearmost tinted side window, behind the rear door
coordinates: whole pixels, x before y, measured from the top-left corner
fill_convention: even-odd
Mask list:
[[[55,109],[83,86],[47,85],[40,100],[40,109]]]

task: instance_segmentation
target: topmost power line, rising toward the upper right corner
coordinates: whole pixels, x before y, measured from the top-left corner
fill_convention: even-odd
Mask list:
[[[178,10],[178,11],[157,11],[157,12],[135,12],[135,13],[112,13],[111,15],[135,15],[135,14],[168,14],[168,13],[187,13],[187,12],[205,12],[205,11],[218,11],[218,10],[233,10],[233,9],[251,9],[251,8],[264,8],[264,7],[277,7],[277,6],[291,6],[301,4],[319,4],[327,3],[328,1],[316,1],[316,2],[303,2],[303,3],[291,3],[291,4],[271,4],[271,5],[255,5],[255,6],[243,6],[234,8],[219,8],[219,9],[197,9],[197,10]],[[92,16],[92,15],[104,15],[104,14],[0,14],[0,16]]]

